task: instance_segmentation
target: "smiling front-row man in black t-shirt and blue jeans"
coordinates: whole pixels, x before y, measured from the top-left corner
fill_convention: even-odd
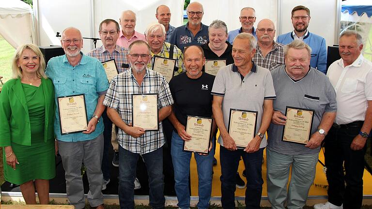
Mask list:
[[[203,50],[200,46],[189,46],[184,51],[186,73],[173,77],[169,83],[174,104],[168,117],[175,127],[172,134],[171,156],[174,167],[175,190],[181,209],[190,208],[188,179],[190,175],[191,152],[183,151],[184,141],[192,140],[186,133],[187,115],[197,117],[212,117],[211,90],[215,80],[214,75],[202,72],[205,64]],[[216,130],[213,122],[212,133]],[[195,153],[198,167],[199,202],[197,207],[207,209],[212,192],[213,143],[210,143],[210,154]]]

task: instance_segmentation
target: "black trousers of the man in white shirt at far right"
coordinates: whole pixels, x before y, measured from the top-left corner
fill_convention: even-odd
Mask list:
[[[352,127],[332,127],[325,137],[328,201],[337,206],[343,204],[344,209],[358,209],[362,206],[362,178],[367,146],[356,151],[350,148],[354,137],[359,134],[361,124]]]

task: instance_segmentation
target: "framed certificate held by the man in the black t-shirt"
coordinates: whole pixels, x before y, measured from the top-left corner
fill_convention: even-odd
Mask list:
[[[209,153],[212,122],[212,118],[187,116],[186,133],[191,135],[192,139],[184,141],[184,151]]]

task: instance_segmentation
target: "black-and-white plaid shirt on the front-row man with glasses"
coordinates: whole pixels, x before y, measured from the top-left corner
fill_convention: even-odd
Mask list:
[[[139,93],[157,93],[159,109],[173,104],[171,90],[166,79],[159,73],[148,69],[141,86],[138,85],[132,70],[113,77],[103,104],[116,109],[124,123],[129,124],[132,122],[132,94]],[[159,131],[146,131],[138,138],[126,134],[119,128],[118,141],[120,146],[134,153],[152,152],[165,143],[162,123],[159,122]]]

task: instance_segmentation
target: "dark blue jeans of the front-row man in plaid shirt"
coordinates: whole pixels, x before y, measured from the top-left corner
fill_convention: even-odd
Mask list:
[[[134,209],[134,179],[139,153],[133,153],[119,146],[119,203],[121,209]],[[142,154],[149,175],[150,202],[153,209],[163,209],[164,176],[163,148]]]

